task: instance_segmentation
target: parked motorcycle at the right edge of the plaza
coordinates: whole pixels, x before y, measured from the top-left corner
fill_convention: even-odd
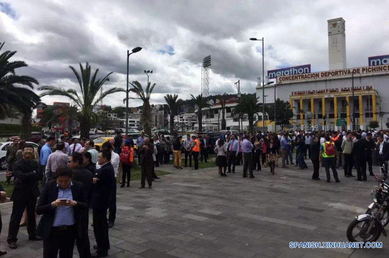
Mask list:
[[[373,203],[365,214],[356,216],[347,227],[350,242],[374,242],[381,233],[387,237],[385,226],[389,223],[389,179],[385,167],[380,167],[380,176],[375,175],[378,186],[371,191]]]

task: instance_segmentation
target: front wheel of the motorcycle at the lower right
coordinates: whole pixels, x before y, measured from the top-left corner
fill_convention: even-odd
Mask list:
[[[361,233],[363,229],[367,229],[367,227],[369,227],[369,223],[370,219],[365,219],[361,221],[355,219],[354,221],[352,221],[347,227],[347,239],[350,242],[364,243],[376,241],[381,235],[381,224],[379,222],[375,220],[372,222],[374,223],[374,225],[369,235]]]

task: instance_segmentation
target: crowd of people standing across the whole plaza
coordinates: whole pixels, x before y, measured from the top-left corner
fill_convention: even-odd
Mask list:
[[[330,168],[335,182],[340,182],[336,169],[343,169],[345,177],[357,181],[367,180],[367,169],[373,175],[372,166],[385,166],[389,160],[389,132],[384,131],[283,131],[278,133],[244,132],[219,137],[207,135],[163,135],[152,138],[141,136],[136,142],[131,137],[123,139],[118,133],[100,149],[92,140],[71,136],[57,138],[50,135],[41,139],[38,148],[15,140],[8,147],[6,184],[14,190],[7,242],[11,249],[18,248],[18,230],[27,226],[29,240],[43,240],[43,257],[72,257],[74,243],[81,258],[106,257],[110,248],[108,228],[116,219],[116,177],[120,187],[130,186],[133,164],[141,167],[141,189],[152,188],[152,181],[159,177],[155,167],[170,164],[182,169],[198,169],[198,162],[209,162],[209,155],[216,154],[216,166],[220,176],[235,173],[235,167],[243,164],[243,177],[253,178],[253,171],[269,167],[271,174],[279,167],[295,165],[307,169],[305,159],[313,164],[313,180],[320,180],[320,165],[325,168],[327,182],[331,181]],[[295,157],[293,158],[293,153]],[[136,162],[136,155],[138,160]],[[188,162],[189,161],[189,162]],[[295,163],[294,163],[295,161]],[[188,164],[189,163],[189,164]],[[43,188],[39,191],[39,181]],[[0,186],[0,201],[5,191]],[[39,197],[39,198],[38,198]],[[88,212],[92,209],[92,226],[95,234],[96,253],[90,253],[88,238]],[[108,217],[106,216],[108,211]],[[42,215],[36,227],[36,214]],[[1,222],[1,220],[0,220]],[[1,229],[1,225],[0,225]],[[0,251],[0,255],[6,252]]]

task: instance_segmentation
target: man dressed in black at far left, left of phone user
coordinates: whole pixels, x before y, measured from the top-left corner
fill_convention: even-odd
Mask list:
[[[15,176],[15,187],[11,200],[14,201],[9,222],[7,242],[11,249],[18,248],[18,232],[23,211],[27,208],[27,232],[29,240],[42,240],[35,234],[35,206],[39,196],[38,180],[40,177],[39,164],[33,160],[34,147],[24,144],[22,147],[23,158],[12,165]]]

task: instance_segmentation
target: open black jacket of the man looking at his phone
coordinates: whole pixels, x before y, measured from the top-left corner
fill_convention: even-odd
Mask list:
[[[71,194],[73,195],[73,201],[77,202],[76,206],[73,206],[74,221],[77,225],[78,236],[82,236],[83,224],[86,223],[88,216],[88,204],[87,197],[85,195],[85,188],[82,183],[73,181],[71,186]],[[58,187],[55,180],[46,182],[43,186],[42,193],[39,196],[38,203],[36,205],[36,214],[43,215],[39,221],[36,229],[36,234],[41,236],[43,240],[47,240],[50,236],[50,231],[54,224],[55,208],[52,207],[52,202],[58,198]]]

